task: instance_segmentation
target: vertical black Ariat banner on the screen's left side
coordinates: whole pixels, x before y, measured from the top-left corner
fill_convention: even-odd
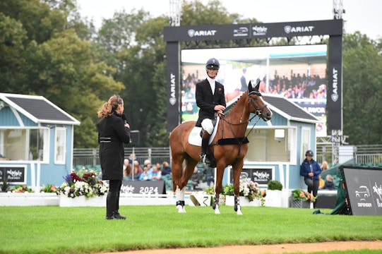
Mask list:
[[[167,131],[172,131],[180,123],[179,107],[179,42],[169,42],[167,54]]]

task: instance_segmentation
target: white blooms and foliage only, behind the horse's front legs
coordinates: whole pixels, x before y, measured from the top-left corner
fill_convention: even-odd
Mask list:
[[[232,184],[225,186],[223,194],[234,195],[234,186]],[[254,199],[259,199],[261,200],[261,206],[263,206],[267,194],[265,190],[258,188],[258,183],[253,182],[250,179],[240,179],[239,195],[248,198],[249,202]]]

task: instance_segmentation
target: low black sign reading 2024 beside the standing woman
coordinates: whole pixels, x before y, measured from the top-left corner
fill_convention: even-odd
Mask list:
[[[166,194],[165,181],[122,181],[121,193]]]

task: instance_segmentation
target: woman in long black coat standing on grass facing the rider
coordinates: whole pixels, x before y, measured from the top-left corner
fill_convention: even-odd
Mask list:
[[[121,118],[124,101],[118,95],[110,97],[98,111],[98,143],[100,143],[100,164],[102,180],[109,180],[106,200],[106,219],[126,219],[119,214],[119,192],[124,177],[124,143],[130,141],[129,123]]]

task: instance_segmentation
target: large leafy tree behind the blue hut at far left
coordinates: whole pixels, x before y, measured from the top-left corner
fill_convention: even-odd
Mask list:
[[[15,0],[0,2],[0,90],[42,95],[81,125],[75,147],[97,146],[97,109],[105,94],[124,89],[115,68],[98,61],[95,47],[83,37],[88,29],[75,1]],[[80,36],[79,36],[79,35]]]

